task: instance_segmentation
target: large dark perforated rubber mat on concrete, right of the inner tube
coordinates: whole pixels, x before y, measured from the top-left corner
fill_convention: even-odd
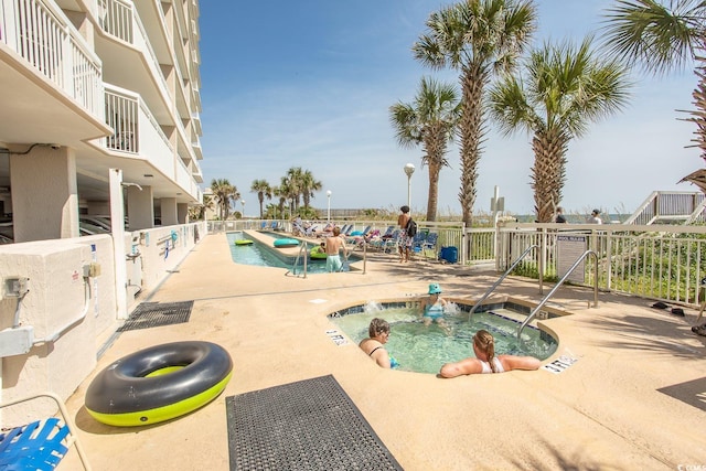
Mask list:
[[[231,470],[402,470],[332,375],[226,397]]]

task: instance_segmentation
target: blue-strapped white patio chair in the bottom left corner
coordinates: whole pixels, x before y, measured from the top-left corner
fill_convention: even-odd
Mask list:
[[[39,398],[50,398],[58,407],[61,420],[56,417],[35,420],[0,433],[0,469],[4,470],[53,470],[74,446],[84,470],[90,470],[75,426],[64,402],[53,393],[35,394],[0,405],[0,408],[28,403]],[[63,421],[63,424],[62,424]]]

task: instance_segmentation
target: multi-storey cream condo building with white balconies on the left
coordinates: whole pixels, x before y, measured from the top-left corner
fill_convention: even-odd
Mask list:
[[[199,67],[197,0],[0,0],[0,402],[68,397],[205,234]]]

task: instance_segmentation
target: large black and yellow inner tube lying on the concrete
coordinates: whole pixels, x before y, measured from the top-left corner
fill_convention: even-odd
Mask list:
[[[208,404],[233,374],[231,355],[211,342],[150,346],[117,360],[86,392],[86,409],[117,427],[157,424]]]

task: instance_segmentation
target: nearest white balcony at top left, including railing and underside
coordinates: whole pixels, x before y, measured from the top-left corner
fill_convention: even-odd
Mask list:
[[[108,132],[100,60],[53,2],[0,0],[0,103],[7,142],[73,144]]]

